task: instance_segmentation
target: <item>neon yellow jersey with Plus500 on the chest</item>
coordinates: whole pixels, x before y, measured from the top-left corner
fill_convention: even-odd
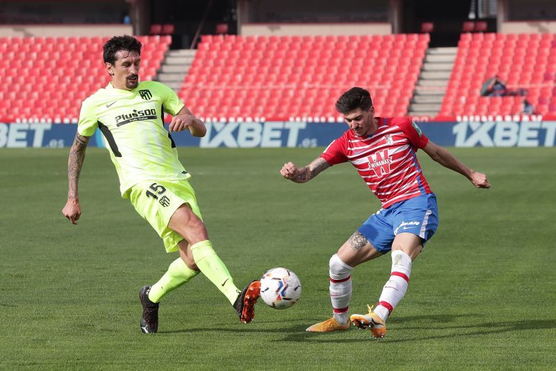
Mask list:
[[[104,134],[125,197],[129,188],[145,180],[191,176],[163,123],[163,112],[174,116],[182,108],[174,90],[157,81],[141,81],[133,90],[108,84],[83,101],[77,132],[92,136],[98,127]]]

